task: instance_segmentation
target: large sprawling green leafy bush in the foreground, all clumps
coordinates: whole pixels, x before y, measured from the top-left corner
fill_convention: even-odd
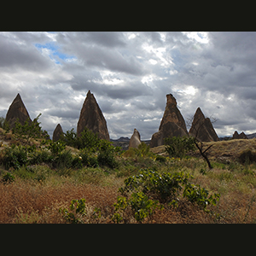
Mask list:
[[[190,183],[189,178],[193,177],[184,172],[159,173],[149,169],[140,171],[136,176],[127,177],[125,186],[119,188],[123,197],[118,197],[117,203],[113,205],[115,212],[112,220],[116,223],[127,222],[125,216],[130,211],[137,222],[141,223],[151,216],[156,208],[163,208],[160,203],[178,207],[178,196],[182,190],[183,198],[196,203],[207,212],[206,207],[210,204],[215,206],[219,195],[208,196],[207,189]]]

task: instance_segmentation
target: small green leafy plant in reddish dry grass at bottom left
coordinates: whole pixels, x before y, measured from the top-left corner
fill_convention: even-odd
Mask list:
[[[82,217],[86,215],[85,212],[85,199],[73,199],[69,206],[70,212],[68,212],[67,208],[60,208],[59,212],[62,213],[63,218],[67,220],[68,223],[71,224],[82,224]]]

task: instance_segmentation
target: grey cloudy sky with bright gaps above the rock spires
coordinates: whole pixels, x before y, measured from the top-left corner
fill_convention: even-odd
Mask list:
[[[0,32],[0,117],[20,93],[52,136],[77,128],[88,90],[113,139],[159,129],[172,93],[219,137],[256,132],[256,32]],[[189,130],[189,127],[188,127]]]

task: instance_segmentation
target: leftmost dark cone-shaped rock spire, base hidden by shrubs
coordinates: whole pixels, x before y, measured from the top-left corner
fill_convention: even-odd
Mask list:
[[[10,129],[15,127],[15,121],[17,119],[19,119],[21,125],[25,125],[26,120],[28,120],[30,123],[32,122],[32,119],[30,119],[29,113],[27,112],[19,93],[9,106],[9,110],[5,118],[5,121],[9,123]]]

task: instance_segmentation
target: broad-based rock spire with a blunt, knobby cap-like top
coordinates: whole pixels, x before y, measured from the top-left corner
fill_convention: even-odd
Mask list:
[[[183,137],[188,136],[183,115],[177,108],[176,99],[172,94],[166,95],[166,110],[160,122],[159,131],[152,135],[150,148],[158,147],[164,144],[166,137]]]

